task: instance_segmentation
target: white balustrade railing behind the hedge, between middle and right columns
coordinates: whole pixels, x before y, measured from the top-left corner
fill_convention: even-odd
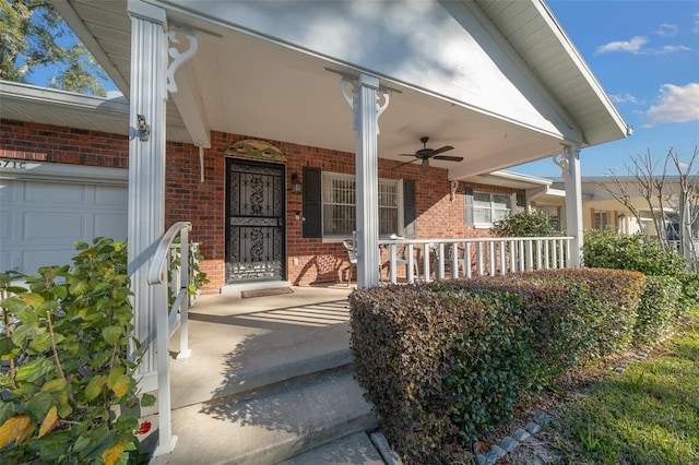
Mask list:
[[[398,266],[406,265],[406,279],[414,283],[568,267],[572,239],[558,236],[399,239],[380,240],[379,245],[388,249],[390,282],[396,283]],[[420,276],[415,276],[415,269]]]

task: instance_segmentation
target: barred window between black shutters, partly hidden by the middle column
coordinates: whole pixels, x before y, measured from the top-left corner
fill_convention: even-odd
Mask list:
[[[400,181],[379,179],[379,235],[400,234]],[[356,179],[352,175],[322,174],[322,236],[346,238],[357,224]]]

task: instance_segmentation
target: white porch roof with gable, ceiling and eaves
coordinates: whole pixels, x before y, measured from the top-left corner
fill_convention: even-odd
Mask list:
[[[496,105],[497,92],[487,87],[488,75],[483,72],[476,78],[459,74],[459,69],[446,68],[448,61],[406,70],[407,63],[419,64],[415,60],[424,50],[417,49],[413,56],[410,50],[401,50],[408,56],[398,64],[391,62],[395,50],[375,48],[357,56],[352,45],[363,46],[363,37],[369,41],[368,33],[379,29],[355,22],[354,31],[348,27],[352,24],[341,22],[342,15],[332,15],[333,9],[359,7],[352,7],[352,2],[313,2],[313,9],[308,11],[329,14],[313,24],[306,24],[303,15],[294,14],[301,12],[298,9],[304,2],[145,3],[163,8],[170,27],[188,28],[199,43],[192,59],[175,74],[178,92],[170,94],[174,105],[168,105],[168,140],[208,146],[211,131],[220,131],[352,153],[353,116],[341,94],[339,73],[371,73],[389,90],[390,104],[379,120],[381,158],[395,160],[398,166],[408,160],[401,154],[420,148],[419,138],[427,135],[431,138],[429,146],[452,145],[455,148],[450,155],[464,157],[462,163],[430,160],[434,167],[449,169],[451,179],[548,157],[560,152],[561,144],[585,146],[626,136],[626,124],[550,11],[538,0],[408,4],[428,9],[423,15],[415,14],[415,19],[446,24],[445,31],[463,39],[459,47],[497,56],[494,63],[482,68],[501,73],[503,83],[511,81],[508,92],[521,96],[523,107],[529,106],[514,116],[507,114],[507,100],[501,107]],[[129,95],[128,3],[66,0],[55,1],[55,5]],[[393,4],[387,2],[383,7]],[[367,2],[362,8],[381,4]],[[411,20],[404,13],[408,10],[393,9],[393,20]],[[329,40],[321,39],[323,31],[332,26],[336,31],[325,32],[334,38],[329,45]],[[417,34],[415,29],[407,31]],[[340,45],[341,33],[347,44],[340,41],[342,50],[333,51]],[[395,36],[412,44],[410,34],[405,34],[398,31]],[[543,55],[548,61],[540,57],[538,45],[526,45],[532,34],[537,36],[536,44],[546,48]],[[352,37],[357,37],[354,43]],[[429,40],[435,41],[428,44],[430,47],[443,51],[437,38],[427,36]],[[176,130],[181,127],[187,128],[187,133]]]

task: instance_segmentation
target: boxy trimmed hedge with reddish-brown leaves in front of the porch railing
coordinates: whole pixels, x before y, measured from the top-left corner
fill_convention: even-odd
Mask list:
[[[523,395],[627,346],[643,285],[583,269],[357,289],[357,381],[394,448],[438,463],[451,436],[476,438]]]

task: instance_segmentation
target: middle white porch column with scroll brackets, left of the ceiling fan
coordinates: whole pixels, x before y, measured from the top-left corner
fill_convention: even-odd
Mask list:
[[[347,84],[353,96],[346,94]],[[389,104],[387,93],[379,91],[379,79],[360,74],[356,81],[341,82],[345,99],[354,112],[353,129],[356,141],[356,204],[357,204],[357,287],[379,284],[379,155],[377,138],[379,116]],[[379,98],[383,96],[383,105]]]

